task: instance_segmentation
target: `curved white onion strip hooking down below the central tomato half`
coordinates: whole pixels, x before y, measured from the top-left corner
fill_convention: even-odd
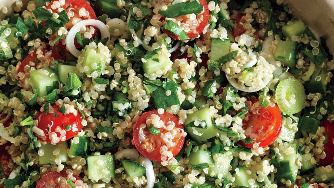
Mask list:
[[[136,149],[124,149],[118,151],[115,153],[115,157],[116,159],[126,157],[128,159],[134,159],[134,160],[137,160],[139,157],[139,161],[145,161],[144,167],[146,168],[146,179],[147,179],[146,188],[153,188],[155,175],[153,170],[153,164],[149,159],[143,157],[142,155],[139,156],[138,151]]]

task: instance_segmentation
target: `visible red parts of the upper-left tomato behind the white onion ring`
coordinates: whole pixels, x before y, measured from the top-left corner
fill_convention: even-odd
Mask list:
[[[52,9],[52,7],[51,7],[51,5],[53,5],[53,3],[57,2],[57,1],[59,1],[59,0],[52,1],[46,7],[46,9],[51,10],[52,13],[58,12],[57,11],[58,8]],[[97,19],[95,11],[91,7],[91,5],[88,4],[85,0],[65,0],[65,4],[62,5],[61,7],[64,8],[64,9],[66,9],[68,6],[70,6],[70,8],[67,9],[66,12],[68,13],[69,11],[71,11],[71,12],[74,13],[74,16],[70,17],[69,22],[64,25],[64,27],[66,27],[67,29],[71,29],[73,27],[73,23],[72,23],[73,18],[80,18],[82,20],[88,20],[88,19],[95,19],[96,20]],[[87,17],[85,17],[85,16],[79,16],[79,10],[81,8],[85,8],[86,11],[88,11],[89,15]],[[43,22],[43,23],[46,24],[45,22]],[[94,27],[94,28],[95,28],[95,31],[96,31],[96,27]],[[56,37],[54,35],[52,35],[51,37],[49,37],[49,40],[54,40],[55,38]],[[59,41],[57,41],[55,44],[57,46],[61,47],[61,48],[65,48],[66,47],[66,45],[62,44],[62,40],[61,39],[59,39]],[[78,44],[76,42],[76,38],[74,39],[74,46],[76,48],[80,47],[80,44]]]

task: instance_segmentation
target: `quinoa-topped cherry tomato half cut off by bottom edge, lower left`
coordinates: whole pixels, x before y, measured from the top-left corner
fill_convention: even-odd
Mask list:
[[[65,171],[60,172],[49,172],[44,175],[37,183],[36,188],[44,188],[44,187],[53,187],[53,188],[60,188],[61,183],[63,181],[66,182],[68,174]],[[77,185],[83,185],[83,181],[76,175],[72,175],[76,180],[72,181],[73,184],[76,185],[76,181],[81,181],[81,183],[77,183]],[[72,188],[66,182],[66,188]]]

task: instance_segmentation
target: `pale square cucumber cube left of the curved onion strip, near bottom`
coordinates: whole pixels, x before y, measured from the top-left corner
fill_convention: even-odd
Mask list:
[[[115,178],[114,155],[92,155],[87,159],[87,176],[93,181],[105,178]]]

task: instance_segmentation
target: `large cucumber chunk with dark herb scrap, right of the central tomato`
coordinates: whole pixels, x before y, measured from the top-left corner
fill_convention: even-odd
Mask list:
[[[206,128],[200,127],[189,127],[187,126],[191,122],[194,122],[194,118],[197,120],[204,121]],[[216,136],[217,129],[212,125],[212,114],[210,108],[206,107],[199,111],[189,114],[186,121],[184,122],[184,128],[187,131],[187,134],[191,137],[192,140],[196,142],[203,142],[204,140],[210,139]]]

